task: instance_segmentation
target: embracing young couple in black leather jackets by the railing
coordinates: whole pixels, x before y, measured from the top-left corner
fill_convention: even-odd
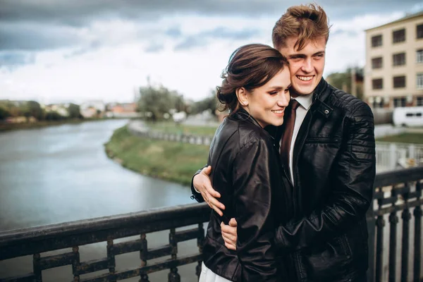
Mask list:
[[[367,281],[374,119],[322,78],[329,28],[320,6],[292,6],[274,48],[232,54],[217,87],[230,114],[192,178],[213,209],[200,281]]]

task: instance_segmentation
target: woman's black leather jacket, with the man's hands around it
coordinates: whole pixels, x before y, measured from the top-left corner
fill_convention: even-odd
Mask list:
[[[216,212],[210,216],[204,264],[231,281],[285,280],[277,264],[274,231],[293,209],[286,204],[289,183],[281,174],[274,138],[240,109],[216,130],[208,164],[226,210],[223,217]],[[238,221],[236,251],[225,247],[220,226],[233,217]]]

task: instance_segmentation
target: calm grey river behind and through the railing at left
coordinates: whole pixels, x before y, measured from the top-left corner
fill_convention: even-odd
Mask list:
[[[188,187],[142,176],[106,156],[104,143],[125,123],[93,121],[0,133],[0,231],[192,203]],[[152,245],[165,244],[168,231],[149,238]],[[81,247],[81,259],[104,257],[104,244]],[[139,265],[139,254],[131,255],[123,258],[124,266]],[[182,266],[180,274],[195,281],[194,267]],[[0,278],[30,272],[32,256],[0,262]],[[152,281],[167,280],[168,271],[161,272],[152,274]],[[43,271],[43,281],[72,278],[71,266]]]

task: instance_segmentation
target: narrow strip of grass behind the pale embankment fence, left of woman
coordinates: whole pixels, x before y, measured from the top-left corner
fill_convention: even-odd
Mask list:
[[[181,125],[173,122],[147,123],[148,127],[155,131],[176,134],[214,135],[215,126]]]

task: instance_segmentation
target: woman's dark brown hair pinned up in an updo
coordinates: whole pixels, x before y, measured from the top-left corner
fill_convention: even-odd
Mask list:
[[[235,112],[240,104],[236,90],[244,87],[252,91],[265,85],[288,65],[286,58],[276,49],[265,44],[247,44],[236,49],[223,71],[222,85],[216,87],[216,95],[223,109]]]

